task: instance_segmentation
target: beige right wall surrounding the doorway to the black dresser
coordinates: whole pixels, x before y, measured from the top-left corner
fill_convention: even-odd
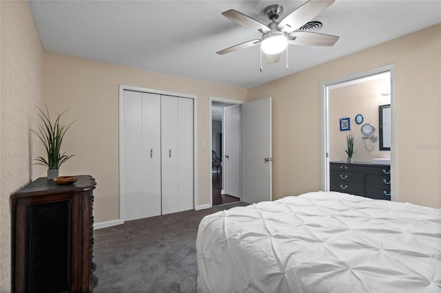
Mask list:
[[[320,189],[320,83],[395,64],[397,199],[441,208],[440,40],[441,24],[249,89],[273,97],[273,197]]]

